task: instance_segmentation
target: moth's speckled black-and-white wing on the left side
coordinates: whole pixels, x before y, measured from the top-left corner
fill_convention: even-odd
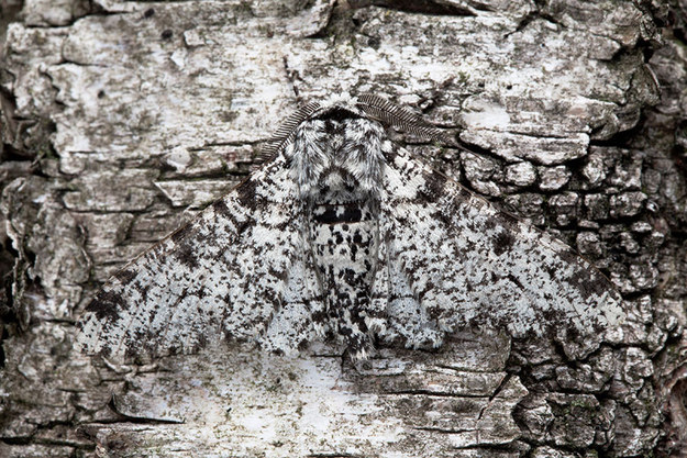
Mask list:
[[[77,347],[157,357],[221,339],[291,351],[318,308],[296,185],[276,157],[117,273],[87,306]]]

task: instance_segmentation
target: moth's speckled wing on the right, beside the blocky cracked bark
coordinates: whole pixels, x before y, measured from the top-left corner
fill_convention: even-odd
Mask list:
[[[390,335],[502,328],[596,335],[620,295],[572,248],[498,211],[390,143],[380,196]],[[569,335],[569,334],[568,334]],[[439,342],[434,342],[435,345]]]

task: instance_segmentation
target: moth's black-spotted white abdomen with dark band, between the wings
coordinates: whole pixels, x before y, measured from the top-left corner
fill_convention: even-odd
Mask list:
[[[312,256],[332,327],[348,339],[366,333],[379,246],[377,202],[342,169],[325,172],[311,201]],[[363,312],[363,314],[362,314]]]

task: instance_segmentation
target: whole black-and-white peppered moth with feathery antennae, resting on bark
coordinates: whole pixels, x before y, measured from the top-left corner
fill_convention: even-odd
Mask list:
[[[229,340],[293,354],[329,338],[363,357],[435,348],[465,327],[591,336],[619,322],[600,271],[388,129],[444,135],[373,94],[302,107],[259,170],[104,284],[77,346],[130,358]]]

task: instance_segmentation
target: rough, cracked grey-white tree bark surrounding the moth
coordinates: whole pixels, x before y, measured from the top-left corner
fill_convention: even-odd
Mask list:
[[[0,4],[0,456],[684,456],[684,5]],[[472,153],[406,141],[608,273],[628,312],[612,342],[572,361],[475,329],[356,367],[326,347],[126,367],[71,350],[100,282],[246,176],[299,103],[341,92],[457,134]]]

